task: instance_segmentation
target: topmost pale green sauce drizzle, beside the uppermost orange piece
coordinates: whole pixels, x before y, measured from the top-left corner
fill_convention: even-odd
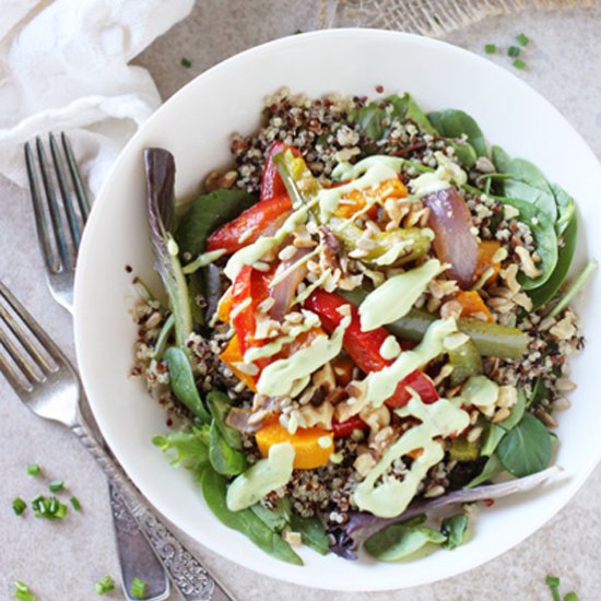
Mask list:
[[[363,190],[377,186],[387,179],[394,179],[401,170],[402,161],[396,156],[368,156],[355,165],[340,163],[332,175],[337,179],[351,179],[349,184],[338,188],[319,190],[317,201],[319,203],[320,219],[327,223],[337,210],[340,199],[353,190]],[[369,199],[366,199],[367,201]]]

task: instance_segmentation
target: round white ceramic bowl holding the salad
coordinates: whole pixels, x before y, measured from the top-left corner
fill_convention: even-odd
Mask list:
[[[129,142],[96,200],[81,248],[75,282],[79,364],[94,415],[110,448],[148,499],[196,540],[256,571],[299,585],[339,590],[386,590],[432,582],[474,568],[518,544],[576,493],[601,457],[600,279],[579,304],[588,345],[574,361],[578,390],[559,417],[557,462],[567,478],[481,512],[473,539],[453,551],[404,563],[362,557],[346,562],[303,550],[304,567],[272,559],[222,526],[184,470],[175,470],[151,445],[165,431],[163,410],[128,378],[135,327],[133,267],[153,276],[148,239],[145,146],[176,157],[179,197],[199,189],[203,176],[229,161],[229,137],[259,125],[262,98],[282,85],[309,95],[327,92],[375,95],[409,91],[425,109],[462,108],[490,142],[535,162],[574,195],[580,212],[576,266],[601,256],[601,169],[582,139],[543,97],[518,78],[466,50],[423,37],[368,30],[339,30],[287,37],[259,46],[210,69],[170,98]]]

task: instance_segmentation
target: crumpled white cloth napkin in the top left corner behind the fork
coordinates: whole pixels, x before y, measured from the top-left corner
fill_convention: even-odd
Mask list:
[[[129,66],[193,0],[0,0],[0,174],[26,186],[23,143],[66,131],[93,193],[161,104]]]

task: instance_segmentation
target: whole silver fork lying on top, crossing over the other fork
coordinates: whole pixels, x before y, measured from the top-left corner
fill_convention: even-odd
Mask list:
[[[101,466],[186,601],[233,601],[229,593],[141,499],[81,413],[74,368],[42,326],[0,282],[0,372],[34,413],[69,427]]]

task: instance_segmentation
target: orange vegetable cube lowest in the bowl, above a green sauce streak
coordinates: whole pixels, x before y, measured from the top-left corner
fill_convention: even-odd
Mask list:
[[[280,424],[278,415],[271,417],[256,434],[257,446],[267,457],[272,445],[290,443],[294,447],[294,468],[314,470],[325,466],[334,451],[334,435],[319,427],[298,428],[291,434]]]

